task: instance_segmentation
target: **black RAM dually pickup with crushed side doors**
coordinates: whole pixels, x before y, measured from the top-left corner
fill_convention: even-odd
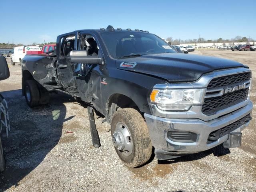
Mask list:
[[[85,102],[111,124],[114,148],[129,167],[153,151],[163,160],[240,146],[251,85],[251,71],[239,62],[178,54],[148,31],[112,26],[62,34],[55,51],[22,60],[28,105],[48,103],[56,90]]]

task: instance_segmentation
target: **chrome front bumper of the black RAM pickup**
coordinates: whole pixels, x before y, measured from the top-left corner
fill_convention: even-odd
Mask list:
[[[157,150],[172,152],[173,154],[191,154],[213,148],[228,140],[228,134],[217,141],[207,144],[211,132],[224,126],[232,124],[252,112],[252,102],[246,106],[210,121],[203,121],[195,118],[162,118],[150,114],[144,114],[152,145]],[[241,132],[249,122],[240,126],[232,132]],[[167,137],[168,131],[182,130],[197,134],[196,142],[174,142]]]

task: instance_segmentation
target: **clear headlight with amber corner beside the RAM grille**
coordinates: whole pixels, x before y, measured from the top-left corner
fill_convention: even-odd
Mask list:
[[[150,101],[161,110],[189,110],[192,105],[201,105],[204,89],[164,89],[152,90]]]

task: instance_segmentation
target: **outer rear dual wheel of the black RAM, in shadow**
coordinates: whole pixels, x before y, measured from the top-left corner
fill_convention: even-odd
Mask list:
[[[40,91],[35,80],[26,80],[25,98],[28,106],[38,106],[40,100]]]

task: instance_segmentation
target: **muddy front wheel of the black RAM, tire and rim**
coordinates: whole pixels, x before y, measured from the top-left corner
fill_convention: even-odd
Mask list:
[[[116,153],[126,166],[135,168],[148,162],[152,144],[147,124],[137,110],[116,111],[112,117],[111,135]]]

